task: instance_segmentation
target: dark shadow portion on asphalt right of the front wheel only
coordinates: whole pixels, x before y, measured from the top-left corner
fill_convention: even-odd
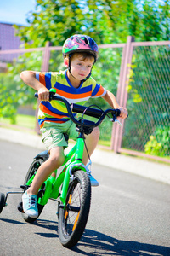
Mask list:
[[[90,253],[83,252],[83,247],[91,249]],[[140,243],[138,241],[121,241],[111,236],[99,233],[94,230],[85,230],[81,241],[73,247],[77,253],[82,255],[170,255],[170,247],[157,246],[153,244]]]

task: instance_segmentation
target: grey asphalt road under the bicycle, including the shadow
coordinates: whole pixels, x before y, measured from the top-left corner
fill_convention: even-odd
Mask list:
[[[20,191],[36,148],[0,141],[0,192]],[[0,255],[170,255],[170,186],[93,165],[88,224],[68,250],[59,243],[57,205],[49,201],[35,224],[17,210],[20,195],[8,195],[0,214]]]

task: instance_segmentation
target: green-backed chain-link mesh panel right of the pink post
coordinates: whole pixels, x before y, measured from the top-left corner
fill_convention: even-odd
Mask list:
[[[169,45],[133,49],[122,147],[157,156],[170,153]]]

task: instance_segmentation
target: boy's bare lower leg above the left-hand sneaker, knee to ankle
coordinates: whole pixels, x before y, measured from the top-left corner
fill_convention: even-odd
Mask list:
[[[65,160],[63,147],[56,147],[50,150],[49,158],[37,170],[37,174],[31,183],[31,187],[27,189],[27,194],[37,195],[42,183],[48,176],[54,172]]]

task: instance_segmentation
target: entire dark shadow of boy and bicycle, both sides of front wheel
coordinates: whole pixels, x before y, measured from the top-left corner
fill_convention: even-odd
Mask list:
[[[1,218],[1,221],[10,223],[10,224],[26,224],[20,221]],[[49,233],[35,233],[39,236],[51,238],[59,237],[58,236],[58,222],[38,219],[35,225],[42,227],[44,229],[51,230]],[[54,231],[56,232],[54,234]],[[86,251],[88,248],[89,252]],[[118,255],[118,256],[169,256],[170,247],[158,246],[149,243],[141,243],[138,241],[122,241],[117,240],[111,236],[107,236],[95,230],[86,229],[83,233],[82,239],[77,243],[77,246],[72,247],[71,251],[80,253],[82,255],[98,255],[98,256],[109,256],[109,255]],[[69,253],[69,252],[68,252]]]

